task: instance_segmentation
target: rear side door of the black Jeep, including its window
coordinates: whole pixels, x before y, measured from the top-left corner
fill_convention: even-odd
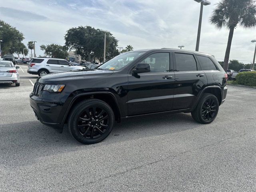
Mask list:
[[[193,108],[207,79],[196,56],[189,52],[174,52],[175,89],[173,110]]]

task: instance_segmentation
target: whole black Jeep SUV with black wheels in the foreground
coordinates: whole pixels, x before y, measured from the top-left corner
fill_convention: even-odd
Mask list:
[[[30,105],[43,124],[64,124],[84,144],[104,140],[114,121],[191,112],[211,123],[226,98],[227,74],[209,54],[175,49],[126,52],[96,69],[39,77]]]

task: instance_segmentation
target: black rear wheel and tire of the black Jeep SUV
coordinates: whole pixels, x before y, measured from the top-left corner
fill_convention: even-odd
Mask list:
[[[192,118],[202,124],[209,124],[214,121],[218,114],[219,101],[213,94],[204,93],[196,108],[191,112]]]

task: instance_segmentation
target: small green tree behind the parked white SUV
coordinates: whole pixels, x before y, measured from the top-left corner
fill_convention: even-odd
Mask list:
[[[41,45],[41,50],[44,50],[49,57],[52,58],[62,58],[66,59],[68,56],[66,46],[61,46],[58,44],[50,44],[50,45]]]

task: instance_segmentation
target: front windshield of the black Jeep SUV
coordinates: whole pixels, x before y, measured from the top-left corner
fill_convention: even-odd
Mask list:
[[[105,62],[98,69],[109,70],[109,71],[117,71],[123,68],[124,66],[128,65],[130,62],[138,58],[140,55],[144,54],[145,52],[126,52],[120,54],[111,60]]]

